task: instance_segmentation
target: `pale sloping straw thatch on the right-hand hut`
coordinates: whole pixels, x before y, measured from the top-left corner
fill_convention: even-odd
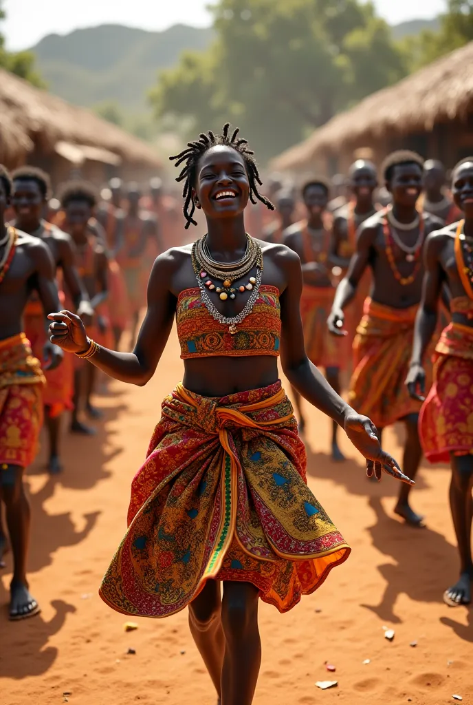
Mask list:
[[[273,159],[277,169],[301,168],[320,154],[361,147],[394,134],[431,131],[464,118],[473,104],[473,42],[389,88],[363,99]]]

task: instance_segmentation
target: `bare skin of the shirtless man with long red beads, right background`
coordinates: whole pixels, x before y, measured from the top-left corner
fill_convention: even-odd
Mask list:
[[[422,168],[417,164],[400,164],[393,169],[393,176],[386,188],[393,197],[393,215],[402,223],[410,223],[414,220],[416,210],[415,204],[422,190]],[[405,309],[417,305],[422,295],[423,268],[420,268],[418,276],[408,286],[402,286],[393,276],[391,266],[386,255],[384,245],[384,235],[382,220],[384,214],[377,214],[362,223],[358,231],[356,252],[353,255],[346,277],[341,281],[336,290],[334,305],[329,316],[329,330],[334,335],[346,335],[343,331],[343,309],[353,299],[356,288],[362,275],[370,266],[372,269],[372,300],[390,306],[394,309]],[[428,235],[441,227],[441,221],[424,214],[424,228]],[[414,245],[419,237],[419,229],[398,233],[406,245]],[[396,262],[398,270],[403,276],[408,276],[412,272],[412,264],[406,262],[402,253]],[[405,419],[407,440],[404,447],[403,469],[408,477],[414,479],[422,458],[419,434],[417,431],[418,414],[409,415]],[[379,429],[381,433],[382,429]],[[410,486],[405,485],[399,491],[398,503],[395,508],[396,514],[403,517],[411,525],[421,526],[422,518],[417,515],[409,504]]]

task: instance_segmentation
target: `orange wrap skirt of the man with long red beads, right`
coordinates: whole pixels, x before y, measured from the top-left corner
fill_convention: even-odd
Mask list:
[[[420,411],[410,398],[408,374],[417,306],[393,309],[368,298],[365,315],[353,343],[355,369],[348,403],[382,429]],[[427,390],[431,385],[430,355],[426,355]]]

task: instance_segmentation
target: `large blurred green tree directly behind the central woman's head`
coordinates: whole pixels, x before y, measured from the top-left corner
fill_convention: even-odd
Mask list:
[[[161,73],[151,102],[201,129],[232,120],[263,159],[405,75],[370,3],[220,0],[213,14],[213,47]]]

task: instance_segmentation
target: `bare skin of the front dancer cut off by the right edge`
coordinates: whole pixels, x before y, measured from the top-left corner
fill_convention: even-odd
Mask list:
[[[473,161],[462,164],[453,173],[453,197],[455,204],[465,213],[465,238],[469,243],[473,243]],[[412,360],[406,379],[411,396],[418,399],[424,398],[425,372],[422,359],[436,329],[442,286],[447,283],[454,298],[467,296],[455,263],[456,231],[455,224],[431,233],[425,247],[424,288],[415,322]],[[462,326],[473,327],[472,319],[465,314],[453,313],[452,320]],[[468,604],[472,600],[473,456],[458,457],[451,453],[450,466],[450,510],[460,554],[460,580],[448,588],[446,597],[450,603],[460,605]]]

